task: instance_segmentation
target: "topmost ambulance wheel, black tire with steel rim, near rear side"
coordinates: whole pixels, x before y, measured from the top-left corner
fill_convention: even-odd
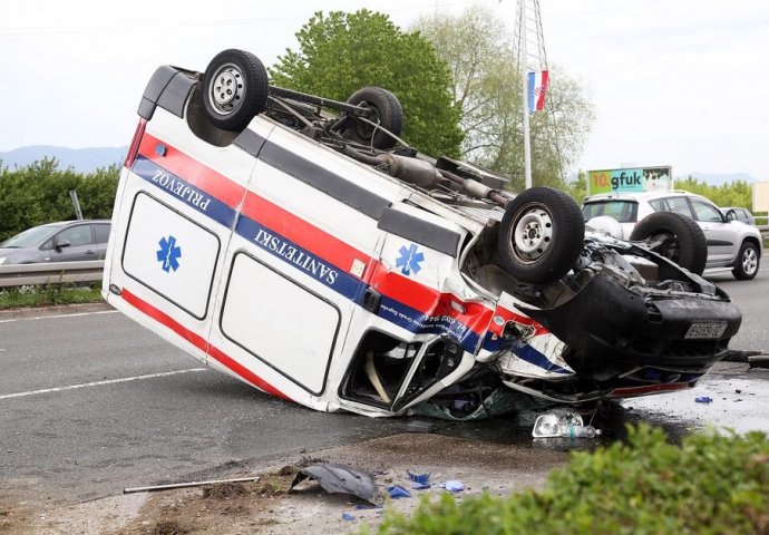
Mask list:
[[[224,50],[211,60],[198,91],[208,121],[224,130],[243,130],[267,105],[267,71],[256,56]]]

